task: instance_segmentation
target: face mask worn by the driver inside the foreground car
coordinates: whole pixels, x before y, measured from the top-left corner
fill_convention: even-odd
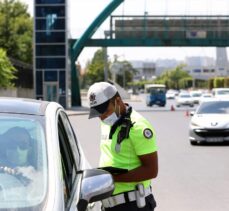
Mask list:
[[[6,155],[12,164],[22,166],[27,162],[28,150],[17,147],[16,149],[7,150]]]

